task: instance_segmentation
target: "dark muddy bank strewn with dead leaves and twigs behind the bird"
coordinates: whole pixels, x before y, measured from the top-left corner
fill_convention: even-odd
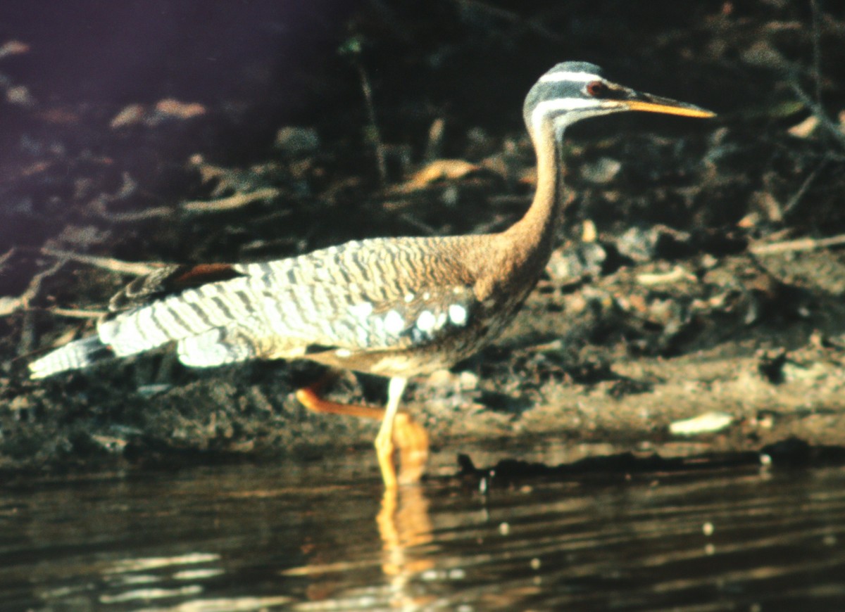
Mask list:
[[[322,373],[308,363],[194,371],[161,350],[40,382],[25,366],[91,333],[124,263],[503,229],[532,198],[522,99],[570,59],[719,116],[571,130],[548,274],[504,338],[406,407],[457,447],[641,448],[705,413],[729,421],[697,434],[718,452],[845,446],[845,11],[812,6],[0,8],[0,469],[368,445],[376,423],[297,403]],[[384,382],[331,393],[380,404]]]

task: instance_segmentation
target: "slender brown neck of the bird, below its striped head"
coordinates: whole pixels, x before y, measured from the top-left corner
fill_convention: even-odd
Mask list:
[[[551,255],[554,236],[562,220],[559,197],[559,171],[555,133],[550,123],[545,123],[532,133],[537,152],[537,192],[525,216],[511,225],[502,237],[511,252],[520,253],[523,264],[545,267]]]

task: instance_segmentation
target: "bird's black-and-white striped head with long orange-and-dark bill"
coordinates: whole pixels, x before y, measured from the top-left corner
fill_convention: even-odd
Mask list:
[[[528,92],[523,116],[532,138],[537,138],[544,129],[551,128],[559,135],[565,127],[581,119],[621,111],[692,117],[715,115],[698,106],[643,94],[608,81],[595,64],[563,62],[543,74]]]

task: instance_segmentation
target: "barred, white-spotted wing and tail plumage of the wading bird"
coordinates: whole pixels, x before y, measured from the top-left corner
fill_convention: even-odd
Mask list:
[[[112,306],[144,295],[154,301],[107,317],[99,344],[85,338],[30,367],[48,376],[88,365],[87,355],[101,356],[101,348],[120,357],[172,341],[179,359],[197,367],[436,343],[477,308],[472,279],[458,263],[461,240],[350,242],[275,262],[205,267],[215,279],[206,284],[195,268],[172,268],[116,296]],[[199,286],[179,290],[175,278]]]

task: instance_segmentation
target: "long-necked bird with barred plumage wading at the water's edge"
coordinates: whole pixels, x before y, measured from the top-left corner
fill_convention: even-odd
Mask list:
[[[526,96],[536,192],[524,216],[506,230],[372,238],[265,262],[167,265],[117,293],[95,334],[30,363],[30,376],[173,343],[186,366],[312,360],[384,376],[383,411],[321,405],[325,400],[309,390],[297,397],[308,408],[381,418],[376,454],[385,489],[395,489],[395,421],[408,379],[477,353],[514,319],[548,263],[562,223],[564,130],[622,111],[715,115],[617,84],[590,62],[559,63]]]

